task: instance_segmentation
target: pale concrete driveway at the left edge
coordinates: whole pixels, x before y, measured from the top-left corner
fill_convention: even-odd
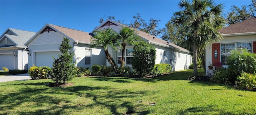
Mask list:
[[[0,82],[16,81],[16,80],[28,80],[31,79],[28,73],[18,75],[4,75],[0,76]]]

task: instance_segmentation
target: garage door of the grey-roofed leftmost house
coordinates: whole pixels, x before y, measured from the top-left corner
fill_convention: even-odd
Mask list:
[[[0,70],[2,70],[2,67],[7,67],[9,70],[14,69],[13,54],[1,54],[0,60]]]

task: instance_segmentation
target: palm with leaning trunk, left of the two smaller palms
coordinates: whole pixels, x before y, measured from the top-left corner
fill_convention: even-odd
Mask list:
[[[104,48],[104,52],[106,55],[106,59],[110,63],[112,67],[114,67],[115,71],[117,71],[117,65],[112,56],[108,52],[108,47],[116,49],[120,41],[118,40],[117,33],[113,31],[111,28],[104,29],[102,31],[94,31],[95,35],[91,38],[91,48],[96,48],[97,46],[101,46]]]

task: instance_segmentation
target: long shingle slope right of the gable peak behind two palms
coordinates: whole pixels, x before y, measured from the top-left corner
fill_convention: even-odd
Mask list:
[[[113,20],[110,20],[110,21],[115,22],[115,21],[113,21]],[[118,22],[115,22],[115,23],[118,24],[118,25],[121,25],[121,26],[129,27],[129,26],[126,26],[126,25],[124,25],[124,24],[120,24],[120,23],[118,23]],[[129,27],[129,28],[131,28],[131,27]],[[132,29],[135,29],[135,28],[132,28]],[[135,29],[135,30],[136,30],[136,29]],[[180,50],[180,51],[183,51],[183,52],[189,52],[189,51],[186,50],[185,48],[182,48],[182,47],[177,46],[177,45],[172,44],[172,43],[167,43],[167,41],[162,40],[162,39],[160,39],[160,38],[157,38],[156,36],[153,36],[153,35],[148,34],[148,33],[146,33],[146,32],[143,32],[143,31],[140,31],[140,30],[136,30],[136,32],[138,33],[138,34],[137,34],[138,36],[140,36],[140,37],[142,37],[142,38],[148,40],[149,42],[156,42],[156,43],[158,44],[158,46],[159,46],[159,45],[162,45],[162,46],[166,46],[166,47],[169,47],[169,48],[172,48],[172,49],[176,49],[176,50]],[[154,39],[153,39],[153,37],[154,37]]]

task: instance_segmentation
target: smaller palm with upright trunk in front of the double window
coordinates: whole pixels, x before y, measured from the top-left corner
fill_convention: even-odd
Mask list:
[[[126,48],[126,44],[134,45],[136,44],[136,40],[138,36],[136,36],[136,30],[131,29],[129,27],[122,27],[120,33],[118,34],[118,39],[121,40],[121,48],[122,48],[122,60],[120,67],[124,67],[124,51]]]

